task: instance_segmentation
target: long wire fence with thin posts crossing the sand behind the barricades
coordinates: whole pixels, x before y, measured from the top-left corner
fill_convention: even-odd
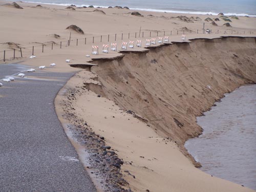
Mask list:
[[[225,35],[251,35],[256,34],[256,31],[246,30],[171,30],[171,31],[157,31],[157,30],[141,30],[133,33],[116,33],[108,35],[90,36],[84,38],[76,38],[59,42],[46,42],[37,46],[30,47],[18,47],[0,51],[0,61],[9,61],[19,59],[23,57],[29,57],[36,53],[44,53],[46,51],[55,49],[65,49],[70,46],[81,46],[99,44],[102,42],[116,42],[118,40],[130,40],[134,38],[151,38],[151,37],[162,37],[162,36],[177,36],[184,34],[225,34]]]

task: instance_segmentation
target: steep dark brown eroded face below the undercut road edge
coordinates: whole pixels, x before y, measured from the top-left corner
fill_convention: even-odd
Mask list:
[[[89,86],[183,145],[202,132],[196,116],[224,93],[256,82],[255,38],[196,39],[93,61],[102,87]]]

